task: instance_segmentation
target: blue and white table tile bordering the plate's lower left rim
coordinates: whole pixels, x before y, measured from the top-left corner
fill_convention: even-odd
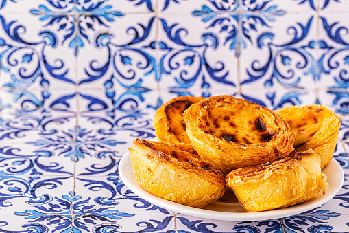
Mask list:
[[[74,214],[171,214],[171,211],[155,206],[131,192],[118,174],[110,174],[101,177],[77,175]]]

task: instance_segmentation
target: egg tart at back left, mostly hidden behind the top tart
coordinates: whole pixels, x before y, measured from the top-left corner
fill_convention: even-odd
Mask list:
[[[163,104],[153,118],[153,127],[158,141],[167,142],[185,151],[194,153],[186,134],[183,111],[204,97],[180,96]]]

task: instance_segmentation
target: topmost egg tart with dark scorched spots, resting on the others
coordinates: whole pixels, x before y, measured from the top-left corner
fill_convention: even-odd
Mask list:
[[[211,96],[183,113],[186,133],[198,155],[229,173],[265,164],[293,151],[289,125],[273,111],[233,96]]]

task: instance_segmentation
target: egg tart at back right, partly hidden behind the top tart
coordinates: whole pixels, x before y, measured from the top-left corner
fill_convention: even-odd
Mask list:
[[[290,106],[275,111],[284,119],[295,135],[296,151],[312,148],[320,156],[321,168],[333,157],[341,120],[322,105]]]

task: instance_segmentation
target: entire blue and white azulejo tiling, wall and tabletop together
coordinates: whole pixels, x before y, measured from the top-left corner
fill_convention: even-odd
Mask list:
[[[349,232],[345,0],[0,0],[0,232]],[[269,221],[198,219],[134,195],[117,165],[176,96],[341,116],[333,200]]]

